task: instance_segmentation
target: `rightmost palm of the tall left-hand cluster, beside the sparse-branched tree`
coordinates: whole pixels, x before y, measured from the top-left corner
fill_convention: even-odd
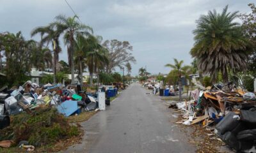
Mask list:
[[[90,72],[90,86],[93,84],[93,73],[99,71],[103,64],[108,64],[106,49],[100,45],[99,37],[89,36],[87,39],[88,52],[86,54],[86,64]],[[99,76],[98,76],[99,77]]]

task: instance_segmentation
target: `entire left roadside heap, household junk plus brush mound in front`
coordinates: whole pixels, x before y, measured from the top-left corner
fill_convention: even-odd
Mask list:
[[[97,100],[97,94],[90,93],[89,96],[81,91],[79,85],[64,87],[61,84],[46,84],[40,87],[31,81],[12,89],[2,87],[0,149],[25,141],[28,143],[18,147],[33,151],[35,147],[80,135],[79,125],[70,124],[66,117],[96,110],[99,101],[105,104],[104,92],[99,93]]]

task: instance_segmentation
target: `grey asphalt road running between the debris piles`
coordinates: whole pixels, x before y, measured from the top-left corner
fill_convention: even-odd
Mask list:
[[[83,122],[83,142],[64,152],[195,152],[186,135],[170,122],[168,107],[147,92],[132,84],[105,111]]]

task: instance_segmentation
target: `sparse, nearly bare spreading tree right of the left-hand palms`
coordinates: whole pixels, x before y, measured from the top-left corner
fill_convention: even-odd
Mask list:
[[[102,44],[108,49],[109,64],[106,66],[106,72],[111,73],[115,67],[124,67],[127,62],[136,62],[132,56],[132,46],[128,41],[106,40]]]

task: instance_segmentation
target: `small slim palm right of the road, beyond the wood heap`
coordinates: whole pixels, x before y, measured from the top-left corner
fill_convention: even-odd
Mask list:
[[[181,78],[182,76],[187,75],[188,69],[190,67],[182,66],[184,61],[178,61],[177,59],[173,59],[173,60],[174,60],[174,64],[166,64],[165,66],[172,68],[172,73],[177,75],[177,77],[179,78],[179,99],[181,100],[181,88],[182,88]]]

